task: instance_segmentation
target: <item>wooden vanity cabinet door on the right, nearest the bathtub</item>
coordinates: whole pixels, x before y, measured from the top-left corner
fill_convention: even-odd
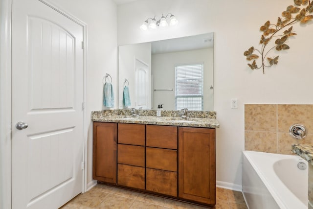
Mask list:
[[[179,197],[215,205],[215,129],[179,127]]]

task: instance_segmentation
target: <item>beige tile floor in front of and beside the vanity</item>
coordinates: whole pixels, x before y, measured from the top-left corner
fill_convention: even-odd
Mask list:
[[[76,196],[61,209],[206,209],[148,194],[106,185],[96,185]],[[224,188],[216,190],[216,209],[247,209],[241,192]]]

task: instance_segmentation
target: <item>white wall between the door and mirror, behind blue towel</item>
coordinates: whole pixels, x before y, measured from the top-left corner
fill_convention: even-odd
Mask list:
[[[88,124],[88,175],[92,181],[92,122],[91,111],[104,109],[103,77],[112,76],[117,93],[116,4],[112,0],[52,0],[65,11],[87,24],[86,117]],[[116,97],[116,96],[115,96]],[[115,98],[117,108],[117,97]]]

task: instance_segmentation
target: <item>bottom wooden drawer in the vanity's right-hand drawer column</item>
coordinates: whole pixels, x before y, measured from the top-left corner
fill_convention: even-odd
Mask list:
[[[177,172],[146,168],[146,190],[177,196]]]

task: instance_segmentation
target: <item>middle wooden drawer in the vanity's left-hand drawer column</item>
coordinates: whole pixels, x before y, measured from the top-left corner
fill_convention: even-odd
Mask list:
[[[117,145],[117,163],[145,166],[145,147],[127,144]]]

